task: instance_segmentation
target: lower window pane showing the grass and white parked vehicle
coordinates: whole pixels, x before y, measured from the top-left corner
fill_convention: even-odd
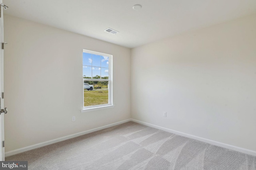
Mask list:
[[[84,106],[108,104],[108,81],[84,81]]]

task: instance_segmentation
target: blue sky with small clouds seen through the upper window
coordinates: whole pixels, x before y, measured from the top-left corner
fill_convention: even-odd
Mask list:
[[[86,77],[108,76],[108,57],[83,53],[83,75]]]

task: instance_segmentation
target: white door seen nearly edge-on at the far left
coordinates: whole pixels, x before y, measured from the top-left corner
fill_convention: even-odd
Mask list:
[[[2,49],[2,43],[4,43],[4,19],[3,19],[3,7],[2,0],[0,0],[0,112],[4,111],[4,100],[2,99],[2,92],[4,92],[4,50]],[[0,160],[4,160],[4,113],[0,115]]]

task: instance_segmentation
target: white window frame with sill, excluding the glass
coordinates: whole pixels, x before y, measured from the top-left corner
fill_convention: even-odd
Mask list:
[[[101,55],[108,57],[108,79],[93,79],[93,78],[83,78],[83,109],[81,112],[87,112],[87,111],[94,111],[94,110],[101,110],[101,109],[107,109],[114,107],[113,105],[113,80],[112,80],[112,58],[113,55],[105,54],[105,53],[99,53],[96,51],[90,51],[83,49],[83,53],[90,53],[94,55]],[[101,76],[101,75],[100,75]],[[108,81],[108,104],[100,104],[100,105],[94,105],[94,106],[84,106],[84,81],[99,81],[99,82],[106,82]]]

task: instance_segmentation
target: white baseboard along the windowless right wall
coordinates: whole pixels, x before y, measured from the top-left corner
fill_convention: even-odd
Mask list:
[[[163,131],[167,131],[167,132],[170,132],[170,133],[174,133],[176,135],[188,137],[190,139],[194,139],[194,140],[197,140],[197,141],[209,143],[211,145],[215,145],[215,146],[218,146],[218,147],[234,150],[234,151],[237,151],[237,152],[242,152],[242,153],[245,153],[245,154],[250,154],[252,156],[256,156],[256,151],[253,151],[253,150],[248,150],[248,149],[236,147],[236,146],[233,146],[233,145],[228,145],[228,144],[225,144],[225,143],[220,143],[220,142],[217,142],[217,141],[212,141],[210,139],[205,139],[205,138],[202,138],[202,137],[190,135],[190,134],[179,132],[179,131],[174,131],[172,129],[168,129],[168,128],[165,128],[165,127],[153,125],[153,124],[146,123],[146,122],[143,122],[143,121],[139,121],[139,120],[136,120],[136,119],[131,119],[131,121],[134,121],[136,123],[140,123],[142,125],[146,125],[146,126],[149,126],[149,127],[154,127],[156,129],[160,129],[160,130],[163,130]]]

